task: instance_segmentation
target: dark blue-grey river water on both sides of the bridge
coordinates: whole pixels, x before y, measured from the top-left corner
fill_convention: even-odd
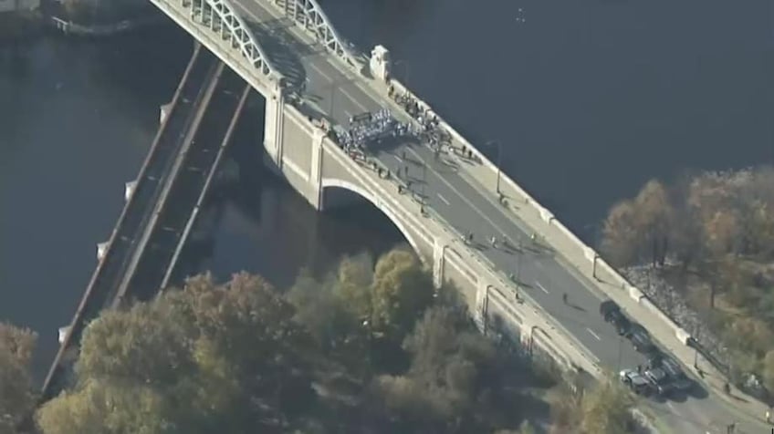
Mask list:
[[[774,160],[769,0],[324,4],[358,46],[389,47],[395,73],[465,136],[501,141],[505,171],[584,238],[649,178]],[[0,55],[0,320],[40,334],[38,371],[191,44],[162,28]],[[244,269],[286,286],[302,266],[403,242],[374,208],[319,215],[269,175],[250,188],[215,229],[204,266],[220,277]]]

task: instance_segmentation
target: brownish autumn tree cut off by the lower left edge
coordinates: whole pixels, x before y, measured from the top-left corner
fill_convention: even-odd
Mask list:
[[[0,323],[0,432],[14,433],[35,405],[29,363],[37,336]]]

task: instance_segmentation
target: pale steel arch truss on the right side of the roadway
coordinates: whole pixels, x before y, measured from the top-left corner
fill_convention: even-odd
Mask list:
[[[360,67],[358,55],[344,38],[339,36],[317,0],[272,0],[295,24],[311,33],[329,52],[354,67]]]

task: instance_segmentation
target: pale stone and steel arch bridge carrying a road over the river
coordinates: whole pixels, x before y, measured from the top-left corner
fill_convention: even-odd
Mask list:
[[[497,316],[525,347],[594,376],[602,366],[642,364],[617,336],[600,337],[610,327],[599,315],[585,314],[605,294],[686,366],[693,362],[685,330],[392,77],[386,48],[366,57],[343,39],[318,0],[151,1],[263,95],[256,146],[269,167],[318,210],[346,201],[342,191],[373,203],[432,267],[436,285],[456,284],[485,333]],[[355,153],[330,134],[381,109],[432,127],[434,149],[425,140]],[[499,142],[486,145],[499,157]],[[577,311],[561,303],[563,291]]]

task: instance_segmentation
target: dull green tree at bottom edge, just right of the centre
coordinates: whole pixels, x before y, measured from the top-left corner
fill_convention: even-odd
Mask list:
[[[403,347],[411,355],[408,371],[374,382],[379,402],[393,418],[416,432],[484,432],[504,419],[497,403],[507,399],[496,398],[503,382],[501,358],[459,310],[430,308]]]

